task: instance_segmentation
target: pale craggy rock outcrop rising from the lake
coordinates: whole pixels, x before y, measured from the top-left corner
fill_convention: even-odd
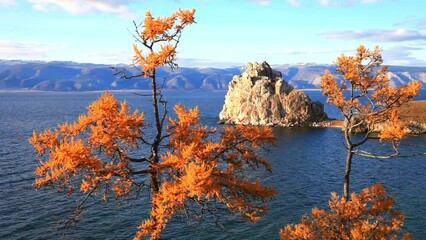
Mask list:
[[[327,114],[322,103],[312,102],[263,62],[248,63],[233,77],[219,118],[227,124],[313,126]]]

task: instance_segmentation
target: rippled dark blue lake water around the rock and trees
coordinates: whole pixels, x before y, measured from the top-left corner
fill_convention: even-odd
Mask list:
[[[307,92],[324,102],[319,91]],[[58,239],[55,219],[66,217],[77,198],[32,187],[37,165],[27,139],[33,129],[41,131],[64,121],[74,121],[100,93],[4,92],[0,93],[0,239]],[[150,109],[147,98],[127,92],[114,95],[132,108]],[[181,102],[200,106],[201,121],[217,126],[225,92],[167,92],[169,106]],[[422,92],[422,98],[426,92]],[[336,109],[326,105],[331,117]],[[149,113],[148,113],[149,114]],[[176,218],[164,231],[165,239],[278,239],[280,228],[300,220],[313,207],[324,208],[332,191],[342,192],[345,150],[342,134],[333,128],[275,128],[277,146],[265,153],[273,172],[262,173],[278,195],[269,201],[269,212],[253,224],[238,215],[223,220],[227,232],[207,219],[200,224]],[[403,143],[422,145],[426,136],[412,136]],[[382,143],[369,142],[372,148]],[[403,149],[410,151],[408,146]],[[419,149],[417,149],[419,150]],[[351,190],[380,181],[395,195],[397,207],[406,214],[405,230],[414,239],[426,239],[426,156],[376,160],[355,157]],[[136,226],[147,216],[144,199],[126,202],[93,200],[69,239],[131,239]]]

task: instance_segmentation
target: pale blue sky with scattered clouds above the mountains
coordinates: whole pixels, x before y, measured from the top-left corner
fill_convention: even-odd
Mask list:
[[[426,66],[424,0],[0,0],[0,59],[130,64],[147,10],[196,10],[182,67],[333,64],[379,45],[387,65]]]

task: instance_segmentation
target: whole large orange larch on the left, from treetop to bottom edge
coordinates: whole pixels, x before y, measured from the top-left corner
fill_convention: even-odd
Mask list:
[[[106,201],[149,191],[150,217],[138,226],[135,239],[159,239],[174,214],[202,216],[214,213],[218,204],[251,221],[262,216],[275,189],[249,172],[271,169],[258,153],[274,142],[272,129],[229,126],[213,137],[217,130],[200,124],[198,108],[176,105],[177,119],[167,116],[156,69],[177,67],[176,47],[182,30],[195,23],[194,13],[179,9],[169,17],[154,18],[148,11],[144,21],[135,24],[134,64],[140,74],[131,77],[151,79],[153,124],[106,92],[76,122],[34,131],[29,141],[40,159],[37,189],[86,193],[76,214],[90,196]],[[148,154],[135,157],[140,152],[136,148]]]

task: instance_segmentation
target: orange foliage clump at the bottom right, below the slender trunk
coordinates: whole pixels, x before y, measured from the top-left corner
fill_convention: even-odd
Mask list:
[[[300,223],[285,226],[281,239],[397,239],[404,214],[380,183],[352,193],[351,200],[331,194],[330,212],[312,209]],[[406,233],[403,239],[411,239]]]

